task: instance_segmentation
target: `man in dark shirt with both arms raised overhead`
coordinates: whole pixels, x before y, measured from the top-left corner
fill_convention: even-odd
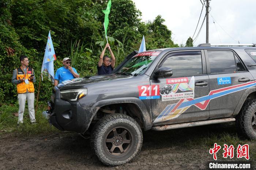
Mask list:
[[[108,55],[104,56],[106,49],[109,50],[109,53],[110,53],[110,56],[111,56],[111,60],[108,57]],[[99,62],[98,62],[98,66],[97,66],[98,75],[111,74],[111,72],[114,69],[115,62],[116,62],[116,58],[115,58],[112,50],[110,49],[109,43],[107,43],[105,48],[102,50],[102,53],[101,53],[101,55],[99,57]]]

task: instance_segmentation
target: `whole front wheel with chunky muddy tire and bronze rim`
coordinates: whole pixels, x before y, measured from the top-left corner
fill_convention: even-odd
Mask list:
[[[139,124],[130,116],[120,113],[104,116],[91,136],[95,154],[108,166],[131,162],[140,152],[142,142]]]

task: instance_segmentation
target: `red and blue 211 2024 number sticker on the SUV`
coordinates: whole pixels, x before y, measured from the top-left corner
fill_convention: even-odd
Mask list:
[[[160,98],[159,94],[159,85],[143,85],[138,86],[139,89],[139,99],[158,99]]]

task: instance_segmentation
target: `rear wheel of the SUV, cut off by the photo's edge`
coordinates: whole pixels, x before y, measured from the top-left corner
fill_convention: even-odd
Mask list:
[[[256,139],[256,100],[246,100],[236,117],[236,125],[241,135]]]

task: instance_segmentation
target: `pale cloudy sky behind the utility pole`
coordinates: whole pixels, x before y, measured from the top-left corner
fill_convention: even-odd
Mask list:
[[[174,43],[185,44],[193,36],[202,10],[200,0],[132,0],[142,12],[142,21],[165,19]],[[203,2],[203,0],[202,0]],[[256,0],[211,0],[209,8],[209,43],[256,43]],[[206,8],[198,24],[202,25]],[[194,46],[206,43],[206,19]]]

